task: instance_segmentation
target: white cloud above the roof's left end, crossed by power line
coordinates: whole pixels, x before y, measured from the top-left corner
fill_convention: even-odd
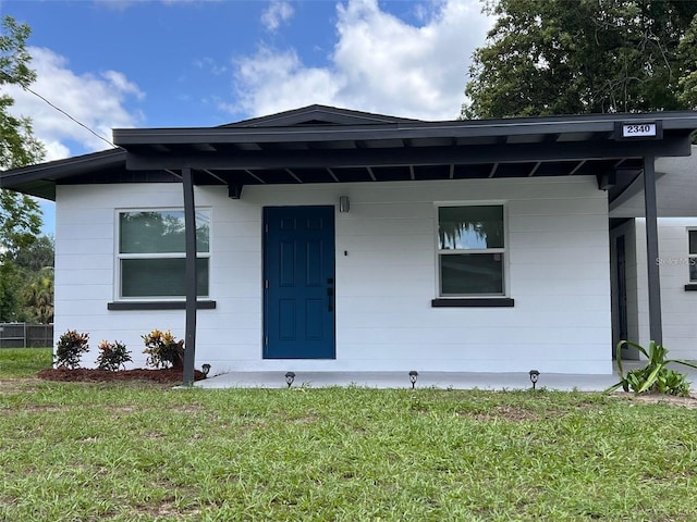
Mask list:
[[[133,127],[142,121],[139,114],[126,110],[125,102],[130,98],[140,100],[145,95],[124,74],[105,71],[99,75],[76,75],[65,58],[53,51],[36,47],[28,50],[33,57],[32,67],[37,73],[30,89],[100,136],[110,140],[112,128]],[[33,94],[16,86],[9,86],[8,94],[15,100],[13,113],[32,117],[35,136],[46,145],[46,160],[109,148],[107,142]]]

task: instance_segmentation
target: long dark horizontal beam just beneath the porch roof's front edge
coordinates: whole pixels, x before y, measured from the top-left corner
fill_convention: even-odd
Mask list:
[[[423,147],[395,149],[240,151],[234,154],[137,154],[130,153],[130,170],[182,167],[210,170],[255,170],[293,167],[350,167],[432,164],[484,164],[537,161],[583,161],[589,159],[689,156],[687,137],[647,141],[583,141],[565,144],[511,144],[467,147]]]

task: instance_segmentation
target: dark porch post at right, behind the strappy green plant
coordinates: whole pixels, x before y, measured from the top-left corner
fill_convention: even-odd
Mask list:
[[[656,206],[656,158],[644,158],[644,208],[646,213],[646,264],[649,289],[649,336],[663,344],[661,325],[661,279],[658,252],[658,209]]]

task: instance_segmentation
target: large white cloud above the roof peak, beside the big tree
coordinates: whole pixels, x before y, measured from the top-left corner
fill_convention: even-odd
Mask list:
[[[293,49],[260,47],[235,61],[231,112],[271,114],[309,103],[423,120],[453,120],[465,101],[474,49],[491,25],[478,0],[414,4],[420,25],[381,11],[377,0],[337,7],[329,65],[308,67]]]

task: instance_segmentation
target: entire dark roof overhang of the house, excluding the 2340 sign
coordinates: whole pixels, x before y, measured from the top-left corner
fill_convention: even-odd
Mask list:
[[[655,138],[617,139],[622,123]],[[421,122],[313,105],[220,127],[115,129],[120,146],[2,173],[2,186],[52,199],[51,185],[179,181],[197,185],[595,175],[611,199],[646,157],[690,153],[695,112]]]

